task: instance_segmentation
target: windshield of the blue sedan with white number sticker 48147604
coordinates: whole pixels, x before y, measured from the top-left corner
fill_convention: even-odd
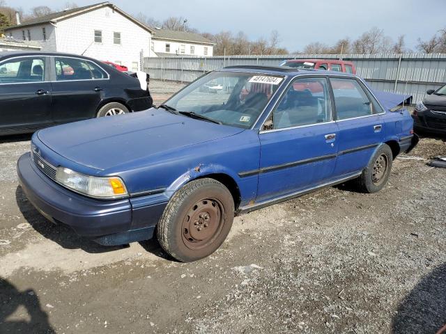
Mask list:
[[[164,103],[184,116],[249,129],[284,77],[248,72],[210,72]]]

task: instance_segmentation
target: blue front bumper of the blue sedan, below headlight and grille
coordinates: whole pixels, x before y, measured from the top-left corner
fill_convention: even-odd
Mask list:
[[[26,197],[43,216],[99,244],[151,239],[166,205],[146,200],[147,205],[133,209],[132,199],[95,200],[73,193],[38,170],[29,153],[17,161],[17,175]]]

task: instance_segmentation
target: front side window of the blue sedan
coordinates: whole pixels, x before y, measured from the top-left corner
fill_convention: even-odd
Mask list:
[[[312,125],[332,120],[327,79],[297,79],[272,114],[273,129]]]

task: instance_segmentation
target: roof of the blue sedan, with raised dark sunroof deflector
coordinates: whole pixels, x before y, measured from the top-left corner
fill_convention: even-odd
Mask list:
[[[263,74],[279,74],[284,76],[295,77],[299,74],[331,74],[343,77],[357,77],[355,74],[337,71],[327,71],[327,70],[312,70],[312,69],[299,69],[296,67],[289,66],[268,66],[268,65],[232,65],[226,66],[222,71],[233,71],[238,72],[261,72]]]

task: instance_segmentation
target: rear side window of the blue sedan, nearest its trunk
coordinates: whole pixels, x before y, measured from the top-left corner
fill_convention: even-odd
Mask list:
[[[382,109],[375,100],[369,99],[355,79],[330,79],[338,120],[369,116]]]

